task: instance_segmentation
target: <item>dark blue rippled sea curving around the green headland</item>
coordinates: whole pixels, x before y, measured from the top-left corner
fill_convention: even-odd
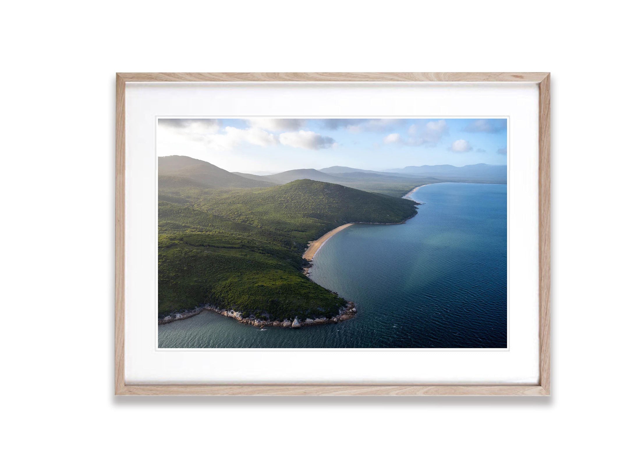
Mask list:
[[[300,329],[217,313],[158,327],[168,347],[507,347],[507,189],[431,184],[404,225],[353,225],[316,253],[310,277],[358,316]]]

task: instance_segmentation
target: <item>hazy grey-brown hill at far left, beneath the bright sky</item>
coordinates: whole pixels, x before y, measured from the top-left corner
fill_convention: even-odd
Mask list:
[[[204,187],[265,187],[273,185],[268,180],[247,179],[211,163],[181,155],[158,157],[158,181],[162,184],[171,180],[177,184],[182,178],[184,185],[200,185]],[[195,184],[194,184],[195,183]]]

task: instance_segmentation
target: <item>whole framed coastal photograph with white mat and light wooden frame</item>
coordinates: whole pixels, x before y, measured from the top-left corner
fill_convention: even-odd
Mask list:
[[[549,395],[548,73],[116,75],[116,395]]]

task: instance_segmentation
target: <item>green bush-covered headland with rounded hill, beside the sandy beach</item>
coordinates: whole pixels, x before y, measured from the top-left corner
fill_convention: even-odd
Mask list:
[[[397,223],[415,202],[296,180],[254,189],[159,187],[159,316],[211,303],[272,319],[331,317],[345,301],[301,272],[307,242],[344,223]]]

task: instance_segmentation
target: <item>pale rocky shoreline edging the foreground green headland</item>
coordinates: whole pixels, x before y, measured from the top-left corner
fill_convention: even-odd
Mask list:
[[[242,313],[237,310],[229,310],[227,308],[218,308],[215,305],[205,304],[202,307],[194,308],[193,310],[184,310],[177,311],[168,315],[162,319],[158,319],[158,324],[167,324],[177,320],[184,320],[189,317],[194,317],[202,312],[202,310],[215,311],[219,313],[223,317],[233,318],[242,324],[249,324],[251,326],[276,326],[276,327],[303,327],[303,326],[313,326],[316,324],[328,324],[328,323],[338,323],[340,321],[349,320],[356,316],[357,310],[355,308],[355,304],[353,302],[348,302],[344,307],[338,310],[338,315],[333,318],[320,317],[316,319],[301,319],[294,318],[293,321],[289,319],[284,320],[271,320],[263,317],[256,317],[255,315],[249,315],[249,317],[244,318]]]

